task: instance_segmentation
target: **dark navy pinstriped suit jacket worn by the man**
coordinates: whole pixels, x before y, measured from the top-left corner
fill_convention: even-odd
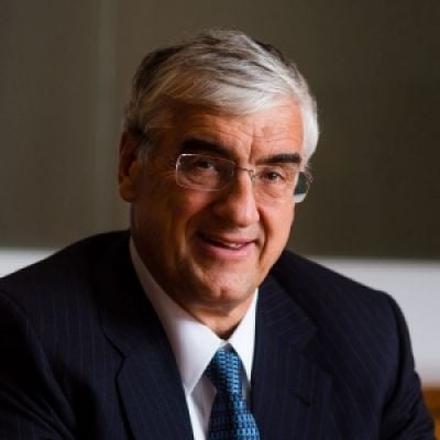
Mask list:
[[[87,239],[0,280],[1,440],[193,438],[128,238]],[[286,252],[261,286],[255,343],[262,439],[433,438],[385,294]]]

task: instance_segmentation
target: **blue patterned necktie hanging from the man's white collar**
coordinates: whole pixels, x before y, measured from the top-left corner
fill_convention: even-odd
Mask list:
[[[241,361],[234,351],[219,350],[205,374],[217,388],[208,440],[258,440],[255,419],[243,398]]]

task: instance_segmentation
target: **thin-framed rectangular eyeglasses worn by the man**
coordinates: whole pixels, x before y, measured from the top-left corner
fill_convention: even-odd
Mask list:
[[[310,176],[298,168],[298,164],[286,162],[249,169],[223,157],[180,154],[176,162],[176,183],[184,188],[220,191],[230,185],[238,170],[242,170],[249,174],[256,196],[266,200],[294,197],[299,204],[307,195]]]

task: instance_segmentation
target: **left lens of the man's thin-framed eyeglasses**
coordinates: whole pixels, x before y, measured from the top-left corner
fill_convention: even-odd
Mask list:
[[[224,188],[234,163],[202,154],[180,154],[176,163],[177,184],[187,188],[217,190]]]

